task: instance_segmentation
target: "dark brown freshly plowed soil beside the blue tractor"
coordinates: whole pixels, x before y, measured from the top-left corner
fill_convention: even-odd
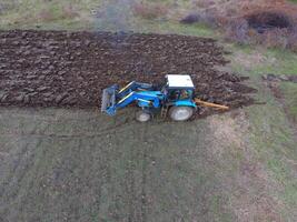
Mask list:
[[[0,32],[0,104],[100,107],[110,84],[158,83],[188,73],[197,95],[237,108],[253,102],[244,78],[221,72],[222,48],[211,39],[175,34],[66,31]]]

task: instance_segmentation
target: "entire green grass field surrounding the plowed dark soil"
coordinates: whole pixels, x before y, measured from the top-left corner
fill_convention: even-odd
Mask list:
[[[297,84],[281,82],[276,98],[261,80],[297,74],[296,53],[236,46],[204,24],[148,20],[109,2],[2,0],[0,29],[212,37],[231,52],[227,69],[250,78],[258,104],[145,125],[133,109],[110,119],[96,110],[1,108],[0,221],[296,221]],[[97,18],[100,8],[108,14]]]

